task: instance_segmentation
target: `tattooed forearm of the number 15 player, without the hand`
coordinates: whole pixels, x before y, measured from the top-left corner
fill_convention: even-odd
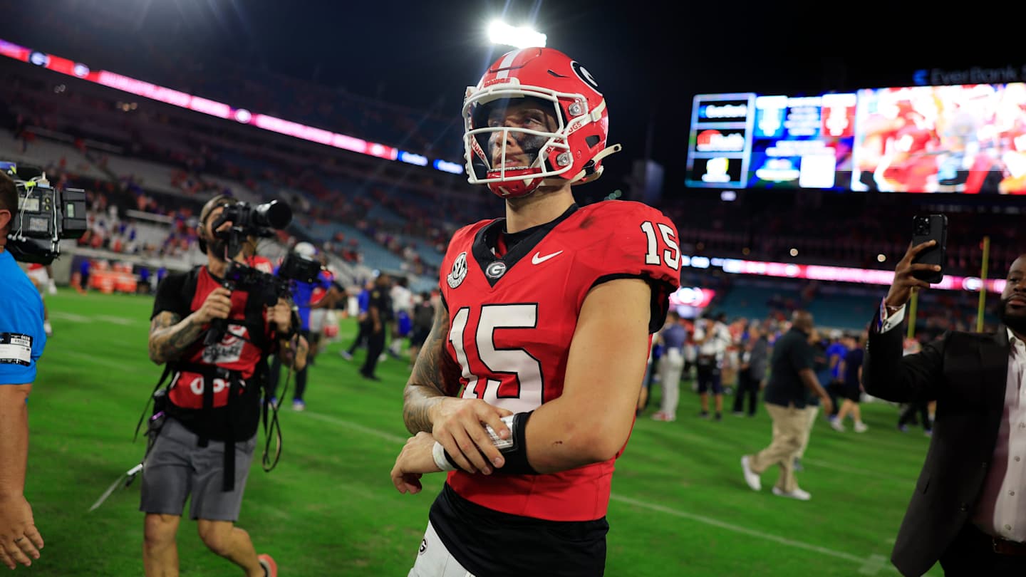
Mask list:
[[[460,367],[445,351],[448,338],[448,311],[439,306],[413,371],[403,391],[402,417],[410,432],[432,430],[430,410],[446,396],[455,396],[460,388]]]

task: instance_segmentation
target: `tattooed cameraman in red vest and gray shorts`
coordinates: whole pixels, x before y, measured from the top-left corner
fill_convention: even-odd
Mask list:
[[[306,341],[293,339],[292,312],[284,299],[268,307],[251,298],[255,295],[223,286],[228,260],[245,259],[241,249],[229,255],[238,240],[225,238],[232,223],[216,224],[235,203],[215,196],[203,206],[197,234],[207,264],[169,274],[157,287],[150,358],[167,363],[173,376],[167,419],[143,469],[140,509],[146,512],[143,561],[148,576],[177,574],[175,534],[190,494],[190,516],[211,551],[249,577],[277,574],[274,560],[258,556],[249,535],[235,521],[256,444],[267,355],[277,352],[302,368]],[[211,326],[216,319],[227,322]],[[223,333],[214,330],[221,326]],[[209,331],[220,340],[208,343]]]

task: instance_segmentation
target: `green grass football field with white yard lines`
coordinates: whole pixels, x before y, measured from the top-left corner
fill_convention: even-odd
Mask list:
[[[26,487],[46,547],[15,574],[142,575],[139,482],[88,509],[144,451],[132,433],[160,376],[147,357],[152,299],[62,291],[46,303],[54,336],[29,402]],[[354,333],[344,321],[341,343],[310,369],[308,410],[283,403],[277,467],[265,472],[259,454],[253,460],[239,526],[282,576],[405,576],[443,480],[427,475],[413,496],[392,487],[389,471],[408,436],[408,368],[389,359],[379,367],[382,382],[361,379],[364,352],[353,362],[338,353]],[[618,461],[606,575],[898,575],[887,560],[929,445],[921,428],[898,432],[897,409],[880,402],[864,405],[864,434],[821,419],[798,473],[813,499],[798,502],[771,494],[775,470],[760,493],[742,478],[740,457],[770,440],[764,411],[704,421],[689,383],[681,389],[678,420],[655,422],[649,409]],[[263,447],[261,433],[258,453]],[[179,550],[184,576],[241,574],[206,550],[195,523],[183,522]]]

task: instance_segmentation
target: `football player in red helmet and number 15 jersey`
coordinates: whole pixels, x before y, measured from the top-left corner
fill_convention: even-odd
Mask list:
[[[679,285],[677,231],[638,202],[575,203],[620,146],[565,54],[503,55],[463,115],[469,181],[506,217],[452,236],[404,391],[416,436],[393,483],[417,493],[449,471],[409,575],[601,575],[614,463]]]

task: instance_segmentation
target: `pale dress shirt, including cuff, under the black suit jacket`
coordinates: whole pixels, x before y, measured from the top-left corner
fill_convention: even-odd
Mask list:
[[[882,308],[882,307],[881,307]],[[881,314],[879,331],[901,324],[905,307],[890,317]],[[1026,343],[1009,331],[1009,372],[1004,411],[987,478],[973,512],[973,523],[989,535],[1026,542]]]

